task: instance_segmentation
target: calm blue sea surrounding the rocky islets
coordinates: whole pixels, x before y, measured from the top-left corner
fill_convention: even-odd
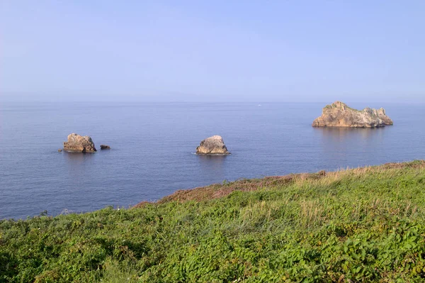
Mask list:
[[[324,104],[1,102],[0,218],[128,207],[225,179],[425,158],[423,104],[349,105],[383,106],[395,125],[312,128]],[[57,152],[69,133],[90,135],[98,152]],[[222,135],[232,155],[193,154],[210,135]]]

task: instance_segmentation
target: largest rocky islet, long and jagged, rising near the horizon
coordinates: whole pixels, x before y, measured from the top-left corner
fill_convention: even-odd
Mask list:
[[[352,109],[341,101],[324,107],[322,116],[313,121],[313,127],[375,128],[392,125],[385,109]]]

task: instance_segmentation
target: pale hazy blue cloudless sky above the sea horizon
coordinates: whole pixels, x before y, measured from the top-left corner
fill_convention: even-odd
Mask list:
[[[425,102],[425,1],[0,0],[0,98]]]

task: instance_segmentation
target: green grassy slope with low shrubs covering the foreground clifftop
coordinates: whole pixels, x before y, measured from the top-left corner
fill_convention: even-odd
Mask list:
[[[0,221],[0,282],[424,282],[425,162]]]

